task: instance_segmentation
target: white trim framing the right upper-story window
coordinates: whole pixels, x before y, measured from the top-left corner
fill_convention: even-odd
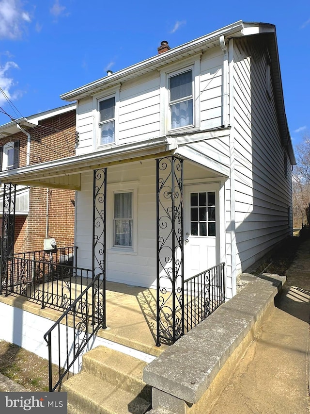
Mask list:
[[[180,63],[169,65],[160,72],[160,134],[167,133],[178,134],[184,131],[193,131],[200,129],[200,58],[196,57],[186,59],[183,61],[183,66]],[[169,110],[169,78],[179,73],[186,72],[192,69],[193,71],[193,125],[186,127],[171,129],[170,128],[170,110]]]

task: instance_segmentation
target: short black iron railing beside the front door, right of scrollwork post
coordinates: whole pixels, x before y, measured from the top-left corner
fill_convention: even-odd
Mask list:
[[[225,301],[225,263],[184,281],[185,333],[212,314]]]

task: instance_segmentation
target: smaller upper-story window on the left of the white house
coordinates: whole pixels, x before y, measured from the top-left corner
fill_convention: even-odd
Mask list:
[[[115,96],[99,100],[99,145],[115,142]]]

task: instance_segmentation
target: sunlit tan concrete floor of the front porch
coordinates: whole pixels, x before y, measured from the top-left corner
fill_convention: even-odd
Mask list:
[[[75,295],[79,293],[75,286],[73,290]],[[0,301],[54,321],[62,315],[62,311],[52,307],[42,309],[40,304],[24,296],[2,294]],[[100,329],[97,336],[154,356],[168,348],[155,346],[155,289],[106,282],[106,323],[107,329]]]

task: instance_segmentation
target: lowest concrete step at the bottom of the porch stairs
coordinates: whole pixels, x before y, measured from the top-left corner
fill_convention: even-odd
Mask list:
[[[65,381],[62,391],[68,393],[68,414],[144,414],[151,404],[88,372]]]

